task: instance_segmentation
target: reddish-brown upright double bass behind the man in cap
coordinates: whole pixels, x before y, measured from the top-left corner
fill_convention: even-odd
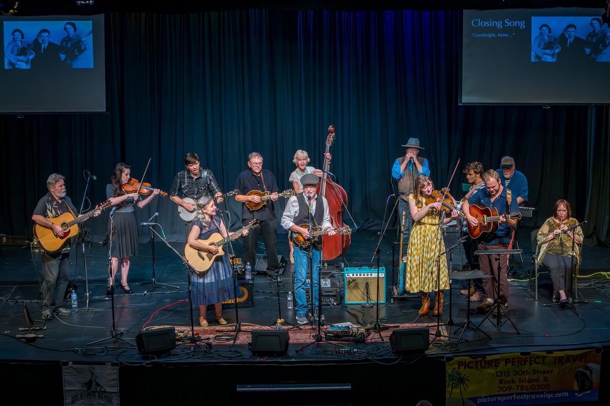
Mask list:
[[[335,127],[328,127],[328,137],[326,137],[326,152],[330,152],[331,145],[335,142]],[[324,158],[323,168],[328,171],[330,162]],[[318,184],[317,193],[322,195],[328,201],[328,211],[331,216],[331,224],[333,228],[343,226],[342,209],[347,208],[347,194],[345,189],[338,183],[331,180],[328,174],[324,172],[322,180]],[[345,207],[342,207],[342,204]],[[343,234],[335,234],[334,236],[322,236],[322,259],[330,261],[336,257],[345,254],[350,248],[351,236]]]

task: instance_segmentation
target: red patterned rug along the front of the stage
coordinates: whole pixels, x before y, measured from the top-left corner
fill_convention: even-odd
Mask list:
[[[177,337],[188,337],[190,336],[190,326],[149,326],[145,330],[159,329],[162,327],[175,327]],[[307,344],[314,340],[315,334],[318,331],[317,326],[311,326],[310,324],[302,324],[296,327],[283,326],[284,330],[289,331],[290,344]],[[365,330],[365,329],[352,329],[352,330],[333,330],[328,324],[321,327],[322,337],[328,337],[329,341],[334,342],[361,342],[364,339],[365,343],[389,343],[390,334],[397,329],[420,329],[428,327],[429,340],[434,340],[434,334],[436,334],[436,324],[428,323],[414,323],[414,324],[382,324],[381,336],[384,338],[382,341],[379,338],[379,334],[376,332]],[[255,324],[242,324],[242,328],[235,340],[236,345],[247,345],[251,341],[251,332],[253,330],[275,330],[275,326],[258,326]],[[226,326],[209,326],[199,327],[195,326],[195,335],[204,341],[210,341],[215,345],[232,345],[232,340],[223,341],[228,335],[234,335],[235,324],[227,324]],[[440,326],[441,337],[437,338],[437,342],[447,342],[447,329],[445,326]],[[219,340],[220,338],[220,340]]]

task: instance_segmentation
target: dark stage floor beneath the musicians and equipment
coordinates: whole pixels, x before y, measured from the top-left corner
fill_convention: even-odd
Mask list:
[[[581,317],[570,309],[561,306],[544,307],[551,303],[551,284],[548,275],[540,276],[539,301],[534,300],[534,290],[528,290],[528,273],[531,259],[529,249],[529,232],[524,228],[520,231],[519,238],[523,249],[523,263],[519,258],[511,261],[514,270],[509,282],[509,310],[508,314],[520,331],[517,334],[511,323],[504,324],[500,329],[493,326],[489,321],[481,325],[481,329],[490,335],[491,339],[480,332],[467,331],[464,338],[468,341],[457,342],[454,338],[436,340],[432,343],[426,355],[452,355],[452,354],[495,354],[498,352],[511,351],[533,351],[534,349],[560,349],[604,345],[610,341],[610,330],[608,320],[610,318],[608,303],[608,282],[606,276],[601,274],[610,271],[610,250],[601,247],[584,247],[583,265],[579,278],[579,296],[589,301],[589,304],[579,304],[576,309]],[[394,236],[390,236],[394,237]],[[345,257],[346,265],[350,267],[375,267],[371,263],[371,256],[378,237],[373,232],[355,233],[352,237],[350,251]],[[178,251],[182,251],[184,243],[171,243]],[[241,247],[237,244],[238,255]],[[279,253],[288,257],[288,246],[285,240],[278,241]],[[397,247],[398,249],[398,247]],[[148,243],[141,245],[142,254],[132,259],[129,283],[134,290],[132,295],[124,295],[121,291],[115,296],[116,326],[119,332],[123,332],[123,338],[129,343],[134,343],[135,335],[142,330],[146,324],[147,328],[154,326],[178,326],[178,331],[184,331],[185,326],[190,326],[190,313],[188,303],[184,301],[188,297],[187,276],[179,258],[162,242],[155,243],[155,268],[157,282],[178,286],[178,289],[164,289],[156,287],[151,292],[146,292],[146,287],[140,283],[150,281],[152,269],[151,246]],[[58,316],[46,323],[47,330],[45,338],[38,340],[35,346],[24,345],[23,341],[15,340],[18,327],[24,326],[25,320],[21,303],[26,303],[29,312],[35,320],[41,319],[40,301],[38,295],[39,278],[41,278],[40,252],[30,251],[30,248],[0,247],[2,256],[0,272],[0,292],[3,300],[0,305],[0,328],[2,335],[0,340],[0,359],[21,360],[56,360],[83,359],[82,354],[87,352],[85,347],[91,341],[109,336],[109,327],[112,324],[110,299],[105,295],[107,259],[106,249],[99,243],[93,243],[87,247],[87,270],[90,303],[88,311],[85,309],[84,301],[84,267],[81,248],[73,250],[71,261],[76,262],[76,285],[79,294],[79,309],[71,315]],[[34,261],[32,261],[32,257]],[[396,253],[398,257],[398,253]],[[459,251],[453,256],[453,270],[461,267],[462,256]],[[331,261],[327,269],[334,270]],[[392,285],[392,241],[388,237],[381,245],[381,265],[386,267],[386,304],[379,306],[379,321],[387,325],[416,324],[417,326],[436,327],[436,317],[432,312],[428,315],[418,317],[417,310],[421,302],[418,298],[397,299],[391,298],[390,287]],[[340,287],[343,286],[342,272],[337,271],[334,276],[338,277]],[[290,324],[295,323],[294,310],[287,309],[286,295],[292,289],[292,265],[289,264],[284,275],[284,280],[279,285],[280,307],[282,317]],[[395,275],[395,278],[397,276]],[[525,280],[524,280],[525,279]],[[118,281],[118,277],[117,277]],[[453,281],[451,318],[454,324],[461,324],[467,317],[465,296],[459,294],[464,289],[464,282],[458,285]],[[450,314],[448,296],[445,296],[445,307],[443,309],[442,323],[446,323]],[[240,307],[239,318],[244,326],[256,328],[256,326],[268,326],[278,318],[278,299],[276,296],[276,284],[265,278],[265,275],[254,277],[254,307]],[[66,302],[66,306],[69,303]],[[479,324],[483,317],[477,315],[473,309],[477,303],[471,304],[470,320]],[[161,309],[161,310],[159,310]],[[195,326],[198,326],[198,309],[193,310]],[[376,307],[365,309],[359,304],[350,306],[325,306],[323,313],[326,324],[351,322],[363,326],[375,323]],[[235,323],[235,312],[232,306],[224,306],[224,318],[229,324]],[[215,326],[213,310],[208,310],[210,326]],[[288,328],[285,326],[284,328]],[[443,331],[451,331],[451,337],[456,337],[457,326],[445,326]],[[246,333],[242,333],[246,334]],[[458,332],[459,334],[459,332]],[[208,334],[209,335],[209,334]],[[387,346],[387,340],[370,337],[376,346]],[[245,343],[249,340],[241,340]],[[209,340],[212,345],[223,345],[218,340]],[[104,345],[122,347],[121,351],[102,351],[98,354],[100,361],[145,361],[138,357],[134,348],[129,345],[121,345],[115,340],[104,341]],[[289,354],[296,357],[299,354],[307,354],[311,359],[328,359],[335,355],[328,351],[319,351],[320,346],[312,346],[303,352],[295,351],[303,344],[291,345]],[[364,348],[367,345],[350,344],[361,348],[361,354],[367,354]],[[73,349],[71,353],[63,352]],[[115,348],[116,349],[116,348]],[[187,351],[181,346],[179,351]],[[51,350],[51,351],[49,351]],[[251,357],[247,346],[240,345],[232,348],[240,353],[240,359]],[[389,356],[389,351],[375,349],[375,354],[381,357]],[[367,354],[368,355],[368,354]],[[87,359],[90,357],[87,354]],[[171,359],[171,357],[169,358]],[[191,359],[201,361],[201,359]]]

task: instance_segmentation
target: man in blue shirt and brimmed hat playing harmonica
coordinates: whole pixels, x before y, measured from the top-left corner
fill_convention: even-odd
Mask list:
[[[392,177],[398,180],[398,191],[401,193],[400,199],[398,199],[398,220],[402,222],[404,212],[404,243],[408,244],[413,218],[407,196],[413,192],[415,178],[422,174],[430,176],[430,167],[428,159],[417,156],[419,150],[423,149],[419,145],[418,138],[409,138],[403,147],[406,147],[407,151],[404,156],[394,161]]]

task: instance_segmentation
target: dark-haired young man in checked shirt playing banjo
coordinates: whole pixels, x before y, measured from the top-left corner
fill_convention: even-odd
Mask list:
[[[209,169],[199,166],[199,156],[194,152],[189,152],[184,156],[184,166],[187,168],[176,174],[174,183],[171,186],[170,199],[176,205],[181,206],[188,212],[195,212],[197,201],[200,197],[214,197],[216,203],[223,202],[223,192],[220,191],[214,174]],[[182,197],[181,197],[182,195]],[[184,201],[184,198],[191,198],[192,203]],[[193,220],[195,219],[193,215]],[[185,221],[186,235],[190,232],[191,221]]]

